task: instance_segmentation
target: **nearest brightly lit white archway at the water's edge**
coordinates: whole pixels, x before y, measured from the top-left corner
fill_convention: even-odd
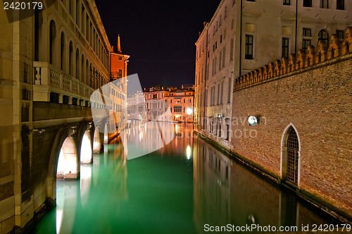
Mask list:
[[[77,179],[77,151],[72,137],[67,137],[61,147],[56,179]]]

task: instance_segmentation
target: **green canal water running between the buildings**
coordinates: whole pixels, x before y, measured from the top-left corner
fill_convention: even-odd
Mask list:
[[[80,180],[58,180],[55,209],[33,233],[203,233],[204,226],[298,226],[334,218],[175,125],[165,147],[127,160],[111,142]],[[130,133],[135,147],[146,129]],[[133,140],[132,140],[133,141]]]

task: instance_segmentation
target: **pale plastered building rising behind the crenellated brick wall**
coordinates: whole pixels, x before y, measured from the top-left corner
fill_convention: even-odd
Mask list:
[[[234,80],[332,34],[341,37],[351,10],[351,1],[222,0],[196,42],[196,130],[231,149]]]

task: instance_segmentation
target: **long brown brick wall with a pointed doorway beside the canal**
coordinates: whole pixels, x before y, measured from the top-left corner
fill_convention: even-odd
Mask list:
[[[298,189],[351,219],[352,54],[346,41],[352,37],[348,30],[344,42],[332,38],[328,50],[318,45],[317,54],[326,59],[308,63],[318,56],[311,47],[311,57],[298,53],[302,66],[296,61],[291,70],[282,72],[283,66],[270,64],[237,80],[232,148],[281,178],[282,137],[291,123],[300,140]],[[259,117],[260,124],[249,126],[248,116]]]

